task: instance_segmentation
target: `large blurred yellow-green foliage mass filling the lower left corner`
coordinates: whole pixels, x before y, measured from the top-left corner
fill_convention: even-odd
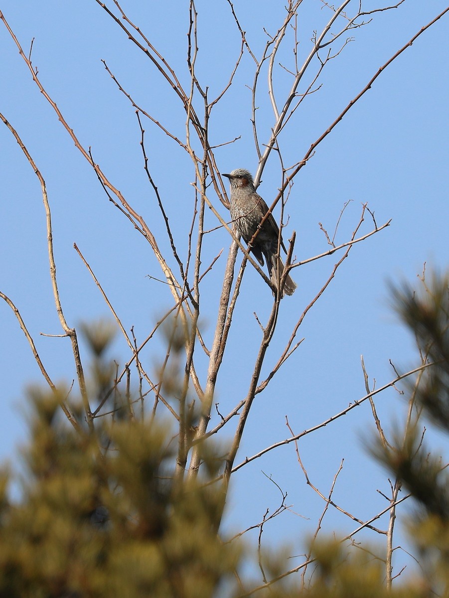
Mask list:
[[[56,398],[33,408],[22,498],[2,500],[0,595],[211,596],[239,549],[216,534],[220,490],[173,475],[167,426],[79,433]]]

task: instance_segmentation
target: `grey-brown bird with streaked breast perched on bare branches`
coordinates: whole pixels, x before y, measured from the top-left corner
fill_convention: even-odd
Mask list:
[[[237,231],[239,231],[245,240],[245,243],[249,243],[262,218],[268,212],[268,206],[261,196],[256,193],[251,173],[248,170],[237,168],[230,175],[224,174],[222,176],[227,176],[231,183],[231,218],[236,225]],[[273,218],[273,214],[270,214],[253,240],[251,251],[261,266],[264,265],[265,257],[268,274],[276,291],[284,270],[284,264],[277,253],[278,243],[279,227]],[[280,237],[280,245],[287,252],[282,236]],[[283,286],[282,297],[284,293],[292,295],[295,288],[295,282],[290,276],[287,276],[285,285]]]

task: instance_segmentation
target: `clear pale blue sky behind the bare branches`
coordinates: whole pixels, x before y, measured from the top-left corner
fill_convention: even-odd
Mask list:
[[[260,57],[268,33],[282,24],[285,2],[236,0],[234,8],[248,43]],[[358,5],[358,2],[352,4]],[[366,4],[374,4],[367,2]],[[110,3],[111,10],[113,2]],[[376,4],[377,5],[377,4]],[[256,8],[255,8],[256,6]],[[383,4],[386,6],[386,4]],[[407,0],[399,8],[372,16],[372,22],[353,30],[351,40],[329,61],[295,112],[279,139],[285,163],[301,160],[310,144],[335,120],[349,101],[399,48],[445,8],[445,2]],[[188,2],[138,2],[124,0],[123,9],[188,87],[186,62]],[[197,76],[218,96],[229,81],[240,51],[240,36],[225,0],[196,2],[198,13]],[[169,252],[163,221],[143,170],[140,130],[135,108],[109,77],[101,60],[121,85],[156,120],[185,139],[185,113],[179,100],[151,62],[131,44],[94,0],[33,2],[2,0],[4,13],[32,61],[42,84],[62,111],[85,148],[91,147],[96,163],[155,233],[161,251]],[[351,7],[348,7],[351,14]],[[117,9],[115,9],[117,13]],[[320,0],[304,0],[298,20],[298,60],[311,48],[314,30],[329,19],[331,8]],[[368,20],[369,17],[366,17]],[[448,258],[448,15],[423,33],[377,78],[341,123],[317,147],[295,179],[286,215],[285,238],[296,231],[294,255],[306,260],[329,246],[319,223],[332,234],[341,210],[337,244],[349,240],[359,221],[361,206],[375,212],[380,226],[391,224],[354,246],[335,279],[307,313],[298,338],[304,341],[283,366],[279,376],[258,395],[237,455],[236,463],[270,444],[289,437],[288,416],[296,433],[318,425],[365,395],[361,355],[376,386],[393,379],[389,360],[400,371],[417,364],[413,339],[404,331],[389,305],[388,283],[407,280],[418,285],[423,264],[447,269]],[[343,20],[342,22],[343,23]],[[151,248],[129,221],[108,202],[88,163],[81,156],[48,102],[32,81],[25,62],[4,25],[0,23],[0,112],[16,128],[47,182],[53,216],[54,251],[60,294],[69,325],[109,317],[108,308],[90,274],[75,252],[77,243],[108,294],[124,327],[132,326],[140,340],[171,306],[166,286],[148,278],[163,275]],[[340,24],[340,28],[343,25]],[[340,30],[338,28],[335,29]],[[344,39],[332,47],[340,50]],[[294,38],[291,29],[275,65],[277,102],[285,101],[292,68]],[[300,93],[314,74],[310,69]],[[255,172],[258,158],[251,127],[251,91],[255,65],[245,51],[233,86],[216,105],[210,118],[210,144],[221,172],[245,167]],[[266,68],[262,69],[258,94],[259,142],[267,142],[274,124],[267,93]],[[319,87],[320,86],[320,87]],[[317,89],[319,87],[319,89]],[[201,104],[197,104],[200,111]],[[48,274],[45,212],[38,179],[11,133],[0,127],[0,291],[14,301],[29,327],[42,361],[51,377],[74,378],[71,347],[61,334]],[[160,130],[143,119],[149,169],[163,197],[182,259],[193,213],[194,169],[190,158]],[[259,193],[268,204],[281,184],[279,160],[274,152],[265,167]],[[210,200],[229,220],[212,187]],[[278,212],[275,214],[279,215]],[[218,225],[206,215],[210,229]],[[361,233],[372,228],[365,219]],[[203,282],[201,326],[210,344],[230,237],[222,228],[206,237],[204,269],[224,252]],[[298,267],[292,277],[298,289],[281,304],[279,324],[271,343],[262,377],[277,361],[300,314],[315,297],[341,254]],[[175,264],[171,266],[175,268]],[[215,400],[225,414],[245,397],[260,341],[259,324],[270,313],[270,289],[247,266],[234,314]],[[160,362],[161,337],[142,360],[149,370]],[[112,355],[123,364],[129,358],[120,337]],[[87,362],[87,356],[83,353]],[[198,358],[203,376],[205,361]],[[23,411],[26,386],[43,382],[17,320],[5,303],[0,304],[0,371],[3,409],[0,420],[0,457],[11,458],[25,438]],[[405,405],[395,390],[378,396],[377,408],[387,430],[401,422]],[[218,416],[213,416],[213,423]],[[387,506],[377,492],[389,492],[387,475],[366,453],[363,439],[375,426],[366,402],[331,425],[310,434],[300,443],[311,481],[327,495],[344,459],[334,500],[361,520]],[[231,434],[229,430],[228,434]],[[438,435],[432,437],[438,446]],[[290,542],[292,553],[301,552],[301,539],[314,530],[323,509],[306,486],[292,444],[267,453],[234,476],[227,526],[240,530],[258,523],[269,508],[280,502],[280,492],[262,474],[271,475],[288,493],[292,505],[266,528],[273,542]],[[378,523],[386,527],[386,519]],[[329,509],[323,529],[346,534],[355,521]],[[377,535],[367,536],[372,542]],[[401,536],[399,536],[401,537]],[[398,566],[410,565],[404,553]],[[292,565],[296,560],[292,560]],[[298,563],[300,560],[298,560]],[[396,572],[398,569],[396,569]]]

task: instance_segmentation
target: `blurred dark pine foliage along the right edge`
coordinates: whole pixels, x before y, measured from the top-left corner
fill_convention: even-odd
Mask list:
[[[421,379],[408,386],[410,405],[449,432],[449,277],[432,275],[423,290],[410,286],[393,291],[396,311],[413,331],[428,365]],[[378,458],[394,472],[420,505],[408,522],[420,551],[427,587],[449,595],[449,475],[441,457],[427,448],[419,419],[398,434],[393,447],[377,446]],[[400,440],[400,438],[405,440]]]

